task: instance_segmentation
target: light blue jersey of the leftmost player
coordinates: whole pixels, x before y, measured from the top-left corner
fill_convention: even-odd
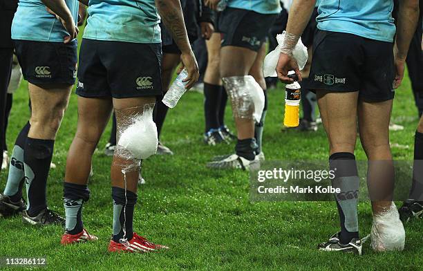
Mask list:
[[[71,10],[76,25],[79,2],[66,0],[66,6]],[[12,22],[12,39],[63,42],[68,35],[62,22],[47,12],[41,0],[19,0]]]

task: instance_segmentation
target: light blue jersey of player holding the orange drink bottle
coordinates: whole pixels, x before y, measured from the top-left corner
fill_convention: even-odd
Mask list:
[[[393,0],[320,0],[317,28],[393,42]]]

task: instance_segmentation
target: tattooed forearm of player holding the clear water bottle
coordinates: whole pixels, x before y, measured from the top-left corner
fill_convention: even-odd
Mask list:
[[[171,33],[182,53],[190,53],[191,46],[185,28],[184,15],[179,0],[156,0],[156,6],[166,29]]]

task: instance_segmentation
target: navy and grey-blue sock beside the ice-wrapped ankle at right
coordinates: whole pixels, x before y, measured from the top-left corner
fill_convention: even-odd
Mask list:
[[[342,244],[350,243],[353,238],[359,238],[358,230],[358,191],[359,177],[357,163],[353,153],[333,153],[329,158],[330,170],[335,171],[332,187],[341,189],[335,194],[337,202]]]

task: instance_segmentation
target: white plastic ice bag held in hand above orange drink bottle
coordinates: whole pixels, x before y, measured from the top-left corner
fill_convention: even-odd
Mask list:
[[[276,65],[279,61],[279,55],[281,55],[281,46],[283,45],[283,40],[285,39],[285,31],[282,34],[276,36],[278,41],[278,46],[272,52],[268,53],[265,57],[265,62],[263,65],[263,73],[265,77],[276,77]],[[292,55],[297,59],[297,63],[300,71],[306,66],[308,59],[307,47],[304,46],[301,38],[299,39],[297,45],[292,51]]]

